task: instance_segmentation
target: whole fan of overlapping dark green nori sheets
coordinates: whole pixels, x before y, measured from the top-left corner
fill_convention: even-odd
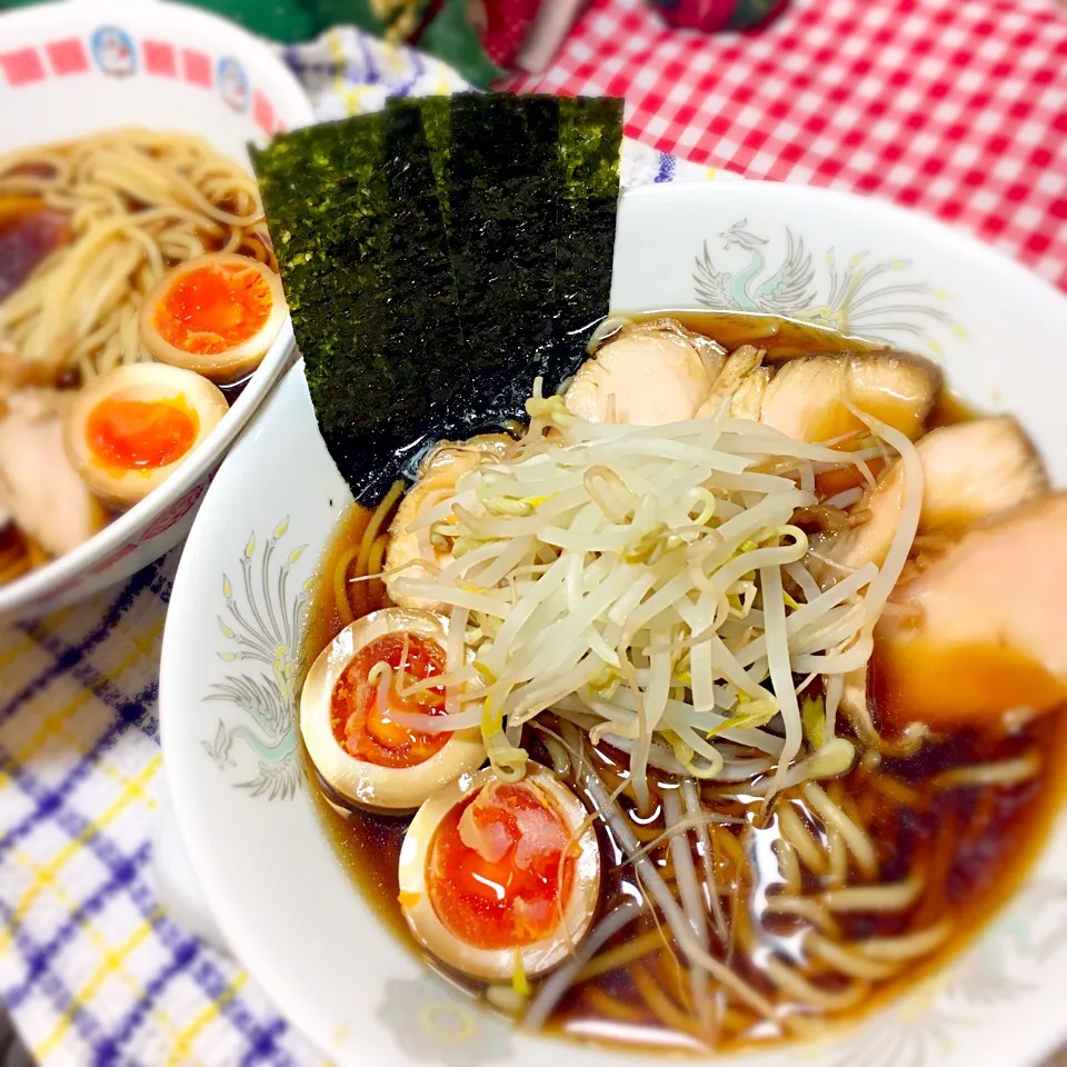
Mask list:
[[[358,500],[576,369],[608,308],[620,138],[621,101],[465,93],[253,151],[318,423]]]

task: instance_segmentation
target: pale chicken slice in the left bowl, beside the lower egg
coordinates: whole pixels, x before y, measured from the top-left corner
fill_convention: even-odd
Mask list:
[[[77,548],[109,518],[67,459],[66,402],[47,389],[16,392],[0,419],[0,511],[51,556]]]

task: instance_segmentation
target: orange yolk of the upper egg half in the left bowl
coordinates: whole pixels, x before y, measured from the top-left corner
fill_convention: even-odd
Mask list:
[[[206,263],[178,275],[153,321],[174,348],[218,356],[255,337],[272,307],[270,286],[256,268]]]

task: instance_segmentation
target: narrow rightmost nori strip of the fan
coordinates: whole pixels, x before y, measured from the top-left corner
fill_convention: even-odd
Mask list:
[[[564,193],[556,255],[556,359],[546,371],[546,392],[577,370],[586,338],[608,311],[621,147],[621,100],[559,101]]]

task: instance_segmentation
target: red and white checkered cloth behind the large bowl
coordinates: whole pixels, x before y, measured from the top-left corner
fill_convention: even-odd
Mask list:
[[[551,67],[512,87],[625,96],[648,144],[928,211],[1067,289],[1056,0],[792,0],[768,27],[711,36],[594,0]]]

